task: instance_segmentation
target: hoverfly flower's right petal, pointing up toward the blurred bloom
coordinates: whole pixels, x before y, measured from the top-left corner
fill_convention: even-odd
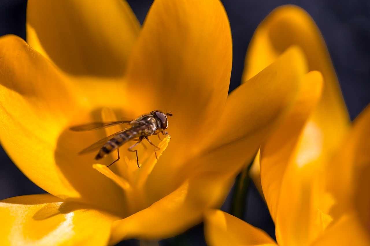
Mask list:
[[[209,148],[258,135],[260,131],[260,140],[255,139],[259,143],[251,143],[253,147],[245,146],[246,153],[243,153],[255,154],[267,136],[265,129],[292,102],[306,72],[302,52],[292,47],[276,62],[236,88],[227,99]]]

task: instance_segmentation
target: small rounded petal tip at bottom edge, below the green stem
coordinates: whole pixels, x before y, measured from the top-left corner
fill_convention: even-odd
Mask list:
[[[272,246],[276,242],[261,229],[221,210],[205,213],[204,234],[208,245]]]

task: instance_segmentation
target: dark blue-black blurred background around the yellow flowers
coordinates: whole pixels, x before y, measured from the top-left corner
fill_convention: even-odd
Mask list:
[[[139,21],[151,0],[128,0]],[[370,1],[369,0],[223,0],[233,38],[233,67],[230,91],[240,84],[246,49],[257,25],[270,11],[283,4],[304,8],[316,21],[326,41],[339,78],[344,100],[353,120],[370,102]],[[0,35],[16,34],[25,38],[26,0],[0,0]],[[44,192],[29,181],[0,149],[0,199]],[[273,236],[273,223],[265,204],[250,187],[246,221]],[[223,209],[228,211],[229,204]],[[128,240],[120,245],[135,245]],[[202,225],[161,245],[204,245]]]

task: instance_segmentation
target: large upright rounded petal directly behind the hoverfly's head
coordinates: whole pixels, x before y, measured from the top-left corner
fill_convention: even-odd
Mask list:
[[[171,174],[201,151],[224,107],[231,62],[231,31],[219,0],[154,1],[127,70],[135,107],[174,115],[161,157],[171,165],[157,165],[153,175]]]

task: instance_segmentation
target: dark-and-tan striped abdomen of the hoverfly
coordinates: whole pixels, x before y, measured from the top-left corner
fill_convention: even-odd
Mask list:
[[[99,160],[111,153],[116,148],[120,147],[122,144],[127,143],[128,141],[135,139],[139,136],[139,133],[136,129],[130,128],[121,133],[115,135],[111,140],[108,140],[106,144],[99,150],[95,160]]]

